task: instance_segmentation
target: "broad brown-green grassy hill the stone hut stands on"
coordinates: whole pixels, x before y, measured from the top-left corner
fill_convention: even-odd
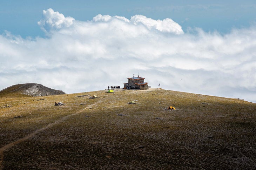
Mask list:
[[[1,97],[0,169],[256,168],[255,103],[153,88],[106,91]]]

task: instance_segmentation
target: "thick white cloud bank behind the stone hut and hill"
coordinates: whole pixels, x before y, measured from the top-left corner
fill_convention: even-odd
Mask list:
[[[90,21],[43,11],[47,38],[0,35],[0,89],[40,83],[66,93],[106,89],[133,74],[149,86],[256,102],[256,29],[184,33],[171,19],[97,15]]]

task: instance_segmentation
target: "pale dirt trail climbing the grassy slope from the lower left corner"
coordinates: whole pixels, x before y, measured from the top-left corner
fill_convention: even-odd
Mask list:
[[[38,130],[32,132],[31,134],[28,134],[27,136],[21,138],[21,139],[18,140],[18,141],[15,141],[15,142],[13,142],[13,143],[9,143],[9,144],[3,146],[2,148],[0,148],[0,170],[4,168],[4,167],[2,167],[1,164],[2,164],[2,162],[4,161],[4,151],[5,151],[5,150],[7,150],[7,149],[13,147],[14,145],[16,145],[16,144],[18,144],[18,143],[21,143],[21,142],[23,142],[23,141],[28,140],[28,139],[31,138],[32,136],[38,134],[38,133],[41,132],[41,131],[44,131],[44,130],[46,130],[46,129],[52,127],[52,126],[55,125],[56,123],[59,123],[59,122],[61,122],[61,121],[66,120],[66,119],[67,119],[68,117],[70,117],[70,116],[73,116],[73,115],[76,115],[76,114],[81,113],[83,110],[85,110],[85,109],[87,109],[87,108],[90,108],[90,107],[96,105],[97,103],[101,102],[102,100],[103,100],[103,98],[102,98],[101,100],[97,101],[96,103],[94,103],[94,104],[92,104],[92,105],[90,105],[90,106],[87,106],[86,108],[83,108],[82,110],[80,110],[80,111],[78,111],[78,112],[76,112],[76,113],[74,113],[74,114],[68,115],[68,116],[66,116],[66,117],[62,117],[62,118],[59,119],[58,121],[53,122],[53,123],[51,123],[51,124],[48,124],[46,127],[41,128],[41,129],[38,129]]]

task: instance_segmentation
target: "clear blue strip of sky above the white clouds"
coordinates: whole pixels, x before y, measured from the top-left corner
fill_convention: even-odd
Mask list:
[[[256,21],[254,0],[1,0],[0,32],[8,30],[15,35],[44,36],[37,25],[43,9],[52,8],[76,20],[92,20],[97,14],[119,15],[130,18],[136,14],[148,18],[171,18],[186,32],[188,27],[199,27],[204,31],[230,32],[232,28],[246,28]]]

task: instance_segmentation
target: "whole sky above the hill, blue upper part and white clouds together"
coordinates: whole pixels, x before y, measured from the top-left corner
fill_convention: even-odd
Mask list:
[[[149,86],[256,102],[254,1],[0,1],[0,90]]]

